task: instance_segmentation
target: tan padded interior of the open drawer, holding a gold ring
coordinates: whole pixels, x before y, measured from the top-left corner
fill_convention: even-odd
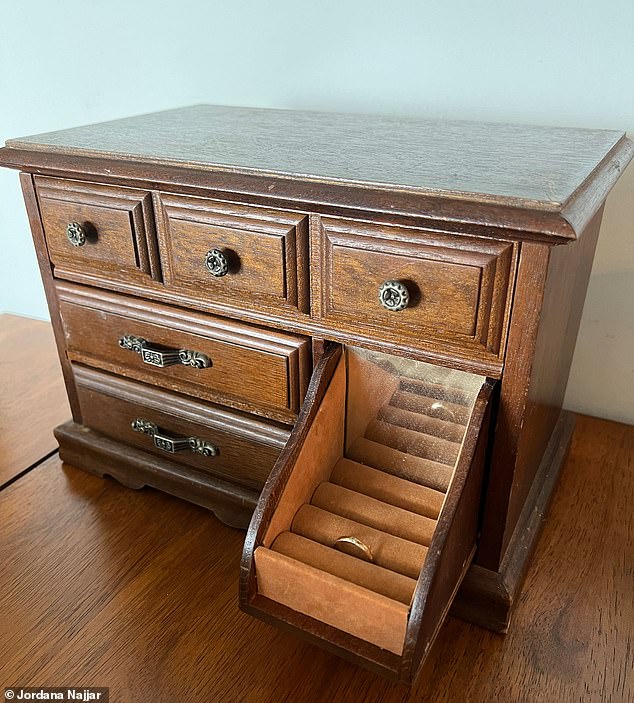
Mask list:
[[[402,653],[484,380],[347,347],[255,551],[258,592]]]

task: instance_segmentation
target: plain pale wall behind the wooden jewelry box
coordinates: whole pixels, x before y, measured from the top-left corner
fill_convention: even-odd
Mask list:
[[[632,0],[0,3],[0,143],[195,102],[634,132]],[[634,168],[613,194],[566,404],[634,423]],[[46,317],[0,170],[0,311]]]

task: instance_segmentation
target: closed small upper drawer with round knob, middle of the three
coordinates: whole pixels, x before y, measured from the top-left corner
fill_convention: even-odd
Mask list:
[[[223,306],[308,312],[308,224],[300,213],[161,194],[165,285]]]

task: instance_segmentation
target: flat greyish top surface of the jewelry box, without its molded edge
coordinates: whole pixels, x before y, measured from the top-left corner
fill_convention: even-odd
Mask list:
[[[195,105],[7,147],[558,212],[623,132]]]

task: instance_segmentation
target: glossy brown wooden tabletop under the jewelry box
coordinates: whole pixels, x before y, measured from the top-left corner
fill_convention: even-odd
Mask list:
[[[52,364],[39,323],[0,319]],[[12,379],[0,366],[3,413],[33,392],[17,366]],[[60,374],[47,383],[59,389]],[[31,420],[58,402],[35,397]],[[11,427],[19,444],[34,424]],[[242,532],[56,455],[29,457],[0,490],[0,689],[101,685],[122,703],[631,701],[633,457],[633,427],[579,418],[510,633],[449,619],[412,691],[241,613]]]

